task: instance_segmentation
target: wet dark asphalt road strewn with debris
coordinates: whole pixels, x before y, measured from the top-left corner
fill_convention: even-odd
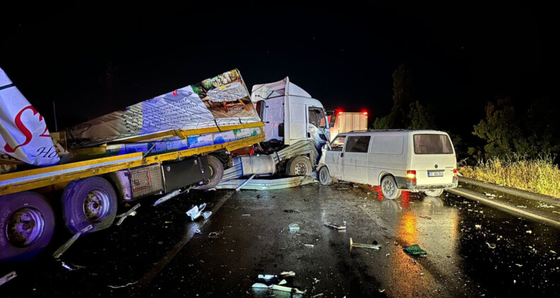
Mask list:
[[[202,202],[214,214],[191,222],[185,212]],[[304,297],[560,294],[559,230],[451,194],[403,192],[391,201],[376,189],[310,184],[148,203],[121,226],[79,238],[60,260],[52,247],[27,263],[0,264],[0,275],[18,273],[0,297],[289,297],[251,287],[257,275],[283,271],[296,272],[287,286]],[[345,222],[346,231],[327,221]],[[300,230],[291,233],[290,223]],[[66,238],[59,232],[55,241]],[[381,248],[350,249],[350,238]],[[413,244],[427,255],[403,252]]]

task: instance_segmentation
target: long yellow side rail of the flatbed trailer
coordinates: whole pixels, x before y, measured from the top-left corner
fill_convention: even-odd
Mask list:
[[[260,123],[260,126],[263,126],[263,124]],[[70,182],[72,180],[97,176],[109,172],[116,172],[118,170],[130,169],[141,165],[152,165],[166,160],[179,160],[180,158],[189,157],[191,155],[211,153],[220,149],[233,151],[262,141],[264,141],[264,132],[259,133],[257,136],[250,136],[228,143],[147,157],[142,157],[142,153],[130,153],[109,158],[96,158],[81,162],[71,162],[65,165],[54,165],[52,167],[13,172],[0,175],[0,196]]]

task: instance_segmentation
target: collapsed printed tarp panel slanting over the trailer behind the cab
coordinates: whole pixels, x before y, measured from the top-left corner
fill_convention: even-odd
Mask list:
[[[174,136],[164,134],[172,131],[188,135],[198,128],[225,131],[227,126],[259,121],[239,71],[231,70],[79,124],[68,134],[74,147],[86,147],[164,139]]]

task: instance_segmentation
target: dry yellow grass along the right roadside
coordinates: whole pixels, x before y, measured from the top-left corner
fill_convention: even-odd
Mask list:
[[[459,166],[459,172],[464,177],[560,199],[560,170],[551,155],[537,159],[512,155],[505,160],[479,160],[475,166]]]

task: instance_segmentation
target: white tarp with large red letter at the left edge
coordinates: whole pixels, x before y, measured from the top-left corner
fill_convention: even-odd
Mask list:
[[[0,153],[30,165],[55,165],[60,160],[45,119],[1,68]]]

